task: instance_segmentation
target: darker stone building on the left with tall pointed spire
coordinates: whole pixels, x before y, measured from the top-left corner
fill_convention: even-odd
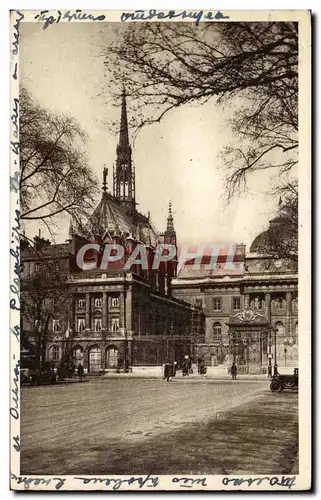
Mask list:
[[[28,247],[21,253],[22,332],[36,344],[40,337],[44,339],[42,361],[59,364],[73,360],[91,373],[162,365],[167,359],[180,363],[184,356],[194,356],[195,345],[205,340],[202,309],[172,295],[176,259],[158,269],[133,263],[124,270],[137,245],[144,246],[149,263],[155,258],[157,244],[177,245],[171,204],[161,234],[154,229],[150,215],[140,213],[136,205],[123,95],[113,194],[108,192],[104,169],[101,200],[86,223],[72,220],[65,244],[44,244],[38,250]],[[86,244],[96,247],[85,254],[86,268],[79,268],[76,256]],[[103,269],[106,244],[121,245],[124,256]],[[53,279],[56,271],[58,276]],[[50,286],[58,293],[53,294]],[[42,304],[42,310],[36,303]]]

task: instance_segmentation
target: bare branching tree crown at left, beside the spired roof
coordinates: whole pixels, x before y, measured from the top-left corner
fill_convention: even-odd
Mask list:
[[[21,219],[50,229],[59,215],[85,215],[97,181],[82,145],[85,132],[68,116],[53,115],[20,89]]]

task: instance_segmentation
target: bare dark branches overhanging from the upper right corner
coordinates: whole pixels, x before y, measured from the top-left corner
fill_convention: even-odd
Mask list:
[[[241,98],[232,119],[240,141],[224,151],[229,198],[254,171],[296,165],[297,23],[135,23],[105,55],[109,84],[125,84],[138,129],[182,105]]]

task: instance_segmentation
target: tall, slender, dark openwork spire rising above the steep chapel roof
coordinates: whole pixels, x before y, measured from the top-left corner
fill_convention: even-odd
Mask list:
[[[113,194],[124,206],[127,215],[133,215],[135,202],[135,173],[132,165],[132,148],[129,144],[125,89],[122,94],[119,142],[113,175]]]

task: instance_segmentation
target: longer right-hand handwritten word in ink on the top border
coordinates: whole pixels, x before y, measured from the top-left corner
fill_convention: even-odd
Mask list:
[[[123,12],[120,20],[124,21],[153,21],[162,19],[192,19],[195,21],[196,26],[199,25],[202,19],[206,21],[219,21],[221,19],[229,19],[230,16],[225,16],[222,12],[217,11],[215,14],[212,11],[204,13],[203,10],[199,11],[186,11],[176,12],[175,10],[157,11],[150,9],[149,11],[135,10],[134,12]]]

